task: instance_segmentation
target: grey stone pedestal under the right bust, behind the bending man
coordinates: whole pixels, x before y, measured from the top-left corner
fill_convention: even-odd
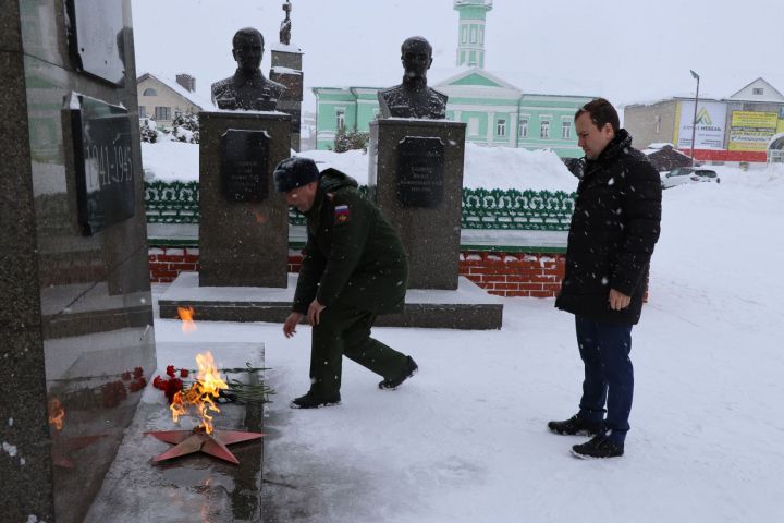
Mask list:
[[[457,289],[465,123],[370,123],[368,188],[408,253],[409,289]]]

